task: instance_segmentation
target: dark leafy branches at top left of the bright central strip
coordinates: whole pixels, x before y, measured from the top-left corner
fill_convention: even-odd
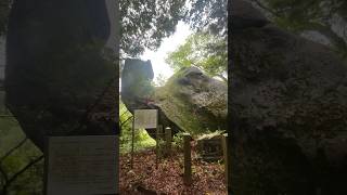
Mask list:
[[[137,56],[144,48],[158,48],[163,38],[172,35],[177,23],[183,18],[184,2],[185,0],[120,0],[123,53]]]

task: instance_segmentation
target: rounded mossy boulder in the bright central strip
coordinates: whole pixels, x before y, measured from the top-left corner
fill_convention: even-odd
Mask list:
[[[209,78],[196,67],[180,69],[156,89],[155,105],[185,132],[227,129],[227,83]]]

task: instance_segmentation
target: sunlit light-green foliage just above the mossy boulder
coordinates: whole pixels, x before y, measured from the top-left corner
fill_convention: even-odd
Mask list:
[[[191,35],[176,51],[168,54],[166,63],[175,72],[182,67],[196,66],[211,77],[227,80],[227,41],[220,36],[196,32]]]

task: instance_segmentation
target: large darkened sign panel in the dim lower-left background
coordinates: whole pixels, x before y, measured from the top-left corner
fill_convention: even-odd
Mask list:
[[[118,193],[118,136],[51,136],[47,195]]]

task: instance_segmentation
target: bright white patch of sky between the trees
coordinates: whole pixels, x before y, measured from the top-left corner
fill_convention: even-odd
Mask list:
[[[191,34],[192,31],[189,29],[189,25],[183,22],[179,22],[176,26],[175,34],[165,38],[157,51],[146,49],[140,56],[141,60],[151,61],[154,72],[154,81],[159,74],[165,78],[169,78],[174,74],[174,70],[165,63],[165,57],[168,52],[175,51],[180,44],[184,43],[185,38]]]

